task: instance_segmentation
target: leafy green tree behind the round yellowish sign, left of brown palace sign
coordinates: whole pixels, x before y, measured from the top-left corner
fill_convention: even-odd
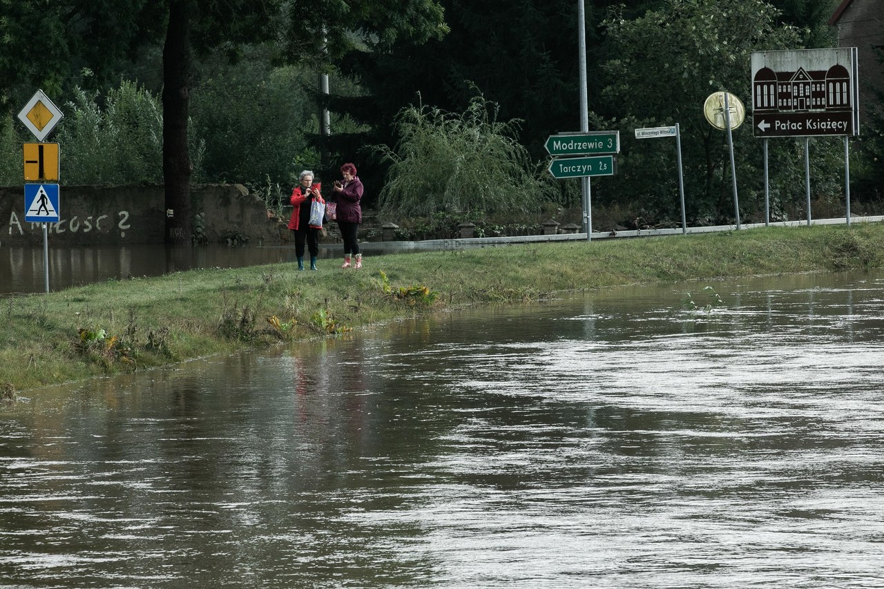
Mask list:
[[[704,119],[705,99],[727,89],[745,100],[751,96],[752,51],[800,47],[798,30],[778,26],[778,17],[779,11],[763,0],[727,5],[667,0],[637,19],[614,11],[606,20],[600,119],[621,128],[621,134],[631,134],[637,126],[681,124],[685,192],[697,218],[718,223],[733,210],[727,135]],[[740,127],[734,137],[743,145],[736,154],[739,169],[751,155],[745,147],[750,142],[742,140],[751,137],[751,126]],[[676,202],[670,197],[671,181],[661,176],[674,176],[671,164],[660,159],[670,150],[661,147],[644,142],[624,150],[621,173],[614,180],[621,187],[618,192],[641,195],[652,206]],[[748,174],[742,177],[747,180]]]

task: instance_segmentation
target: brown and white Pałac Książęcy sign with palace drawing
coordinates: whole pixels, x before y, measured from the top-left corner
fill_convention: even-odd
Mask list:
[[[752,53],[756,137],[858,135],[857,48]]]

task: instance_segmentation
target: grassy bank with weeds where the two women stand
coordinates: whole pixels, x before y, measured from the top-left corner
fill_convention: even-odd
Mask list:
[[[194,270],[0,299],[0,394],[446,307],[628,284],[884,265],[884,225],[752,229]]]

